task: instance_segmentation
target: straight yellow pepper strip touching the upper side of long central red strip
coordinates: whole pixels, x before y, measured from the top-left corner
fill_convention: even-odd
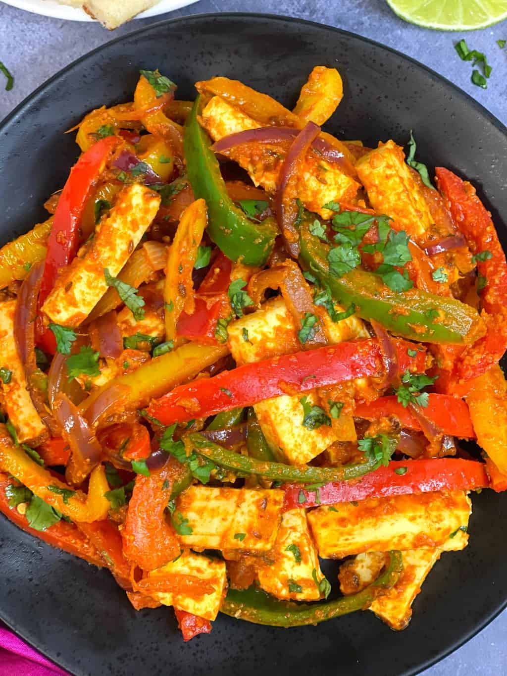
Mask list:
[[[81,411],[89,423],[97,425],[113,412],[141,408],[152,397],[160,397],[178,383],[194,378],[226,354],[225,345],[186,343],[103,385],[82,402]]]

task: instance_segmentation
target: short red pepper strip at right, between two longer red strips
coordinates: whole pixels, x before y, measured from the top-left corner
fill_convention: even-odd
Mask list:
[[[468,406],[462,399],[448,394],[430,394],[424,414],[426,418],[429,418],[441,429],[443,434],[460,437],[461,439],[473,439],[475,437]],[[380,399],[369,404],[357,404],[354,416],[366,418],[366,420],[378,420],[386,416],[394,416],[400,420],[402,427],[421,429],[418,419],[410,408],[404,408],[395,396],[380,397]]]

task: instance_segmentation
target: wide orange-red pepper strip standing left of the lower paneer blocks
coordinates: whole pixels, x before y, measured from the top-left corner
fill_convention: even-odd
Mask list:
[[[178,537],[164,510],[182,471],[178,461],[169,458],[160,470],[151,470],[149,477],[138,474],[135,479],[122,529],[123,553],[143,571],[160,568],[180,554]]]

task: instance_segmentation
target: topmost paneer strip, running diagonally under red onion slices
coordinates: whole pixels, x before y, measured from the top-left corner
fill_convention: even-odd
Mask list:
[[[214,141],[261,126],[218,96],[213,97],[204,108],[201,122]],[[255,185],[261,185],[268,193],[274,193],[285,159],[280,151],[280,145],[274,147],[273,144],[250,143],[233,148],[227,154],[249,173]],[[327,218],[332,212],[323,209],[324,204],[340,199],[353,201],[358,188],[359,184],[354,178],[310,150],[301,166],[295,193],[308,210]]]

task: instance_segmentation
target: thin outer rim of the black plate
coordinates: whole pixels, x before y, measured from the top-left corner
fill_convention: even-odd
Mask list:
[[[192,0],[194,2],[196,0]],[[197,20],[203,20],[203,19],[216,19],[216,18],[222,18],[224,20],[227,19],[238,19],[238,18],[247,18],[251,20],[251,18],[256,18],[260,20],[270,20],[270,21],[281,21],[281,22],[289,22],[289,23],[294,23],[294,24],[303,24],[303,25],[308,25],[308,26],[313,26],[314,28],[320,28],[324,30],[329,30],[331,32],[335,32],[337,34],[340,34],[341,36],[345,38],[350,38],[353,37],[355,39],[359,39],[360,41],[363,41],[364,43],[367,43],[368,45],[373,45],[377,48],[383,49],[385,51],[391,52],[399,57],[402,57],[402,59],[406,60],[407,62],[413,64],[414,66],[417,66],[418,68],[423,69],[433,80],[436,80],[438,82],[445,82],[445,84],[448,85],[459,97],[464,99],[468,105],[471,105],[473,109],[477,110],[480,114],[485,116],[495,126],[502,134],[507,138],[507,126],[504,124],[501,120],[499,120],[493,113],[491,113],[487,108],[482,104],[479,103],[476,99],[474,99],[470,94],[468,94],[466,91],[460,89],[458,85],[454,84],[454,82],[451,82],[444,76],[440,75],[437,73],[435,70],[432,68],[429,68],[429,66],[426,66],[425,64],[422,64],[418,62],[416,59],[413,57],[410,57],[401,51],[398,51],[397,49],[393,49],[392,47],[389,47],[388,45],[383,45],[383,43],[380,43],[376,40],[372,40],[368,37],[365,37],[361,34],[354,33],[349,30],[344,30],[343,28],[337,28],[335,26],[329,26],[328,24],[322,24],[316,21],[308,20],[308,19],[303,19],[299,17],[294,17],[294,16],[285,16],[285,15],[278,15],[278,14],[271,14],[271,13],[262,13],[262,12],[246,12],[246,11],[239,11],[239,12],[199,12],[197,14],[191,14],[187,16],[180,16],[180,17],[174,17],[174,18],[169,18],[169,19],[163,19],[158,22],[154,22],[153,24],[148,24],[147,26],[142,26],[141,28],[137,28],[135,30],[131,30],[130,32],[118,36],[116,38],[113,38],[112,40],[108,40],[107,42],[103,43],[103,45],[99,45],[99,47],[95,47],[95,49],[83,54],[82,56],[78,57],[77,59],[74,59],[70,64],[67,66],[64,66],[61,70],[56,72],[53,76],[45,80],[37,89],[34,89],[32,93],[28,94],[16,107],[9,113],[3,120],[0,120],[0,135],[3,134],[4,132],[7,132],[7,128],[10,124],[16,121],[16,117],[22,112],[23,108],[32,103],[32,101],[35,101],[39,95],[41,95],[45,89],[48,87],[51,87],[53,82],[56,82],[59,80],[59,78],[62,78],[63,76],[66,76],[68,72],[71,72],[72,69],[75,66],[80,65],[82,62],[85,62],[87,59],[90,59],[94,57],[97,53],[99,53],[102,50],[105,50],[110,47],[112,44],[116,44],[121,42],[122,40],[130,39],[132,37],[135,37],[139,34],[149,32],[150,30],[155,30],[160,28],[161,26],[165,26],[168,24],[175,24],[177,22],[193,22]],[[8,520],[7,520],[8,521]],[[16,528],[16,525],[12,524],[9,522],[12,527]],[[18,529],[19,530],[19,529]],[[23,533],[24,531],[20,531]],[[29,535],[29,534],[28,534]],[[32,537],[30,535],[30,537]],[[43,543],[45,544],[45,543]],[[49,545],[48,545],[49,546]],[[72,555],[68,555],[72,556]],[[461,648],[466,644],[470,639],[475,637],[478,633],[480,633],[487,625],[489,625],[494,619],[496,619],[504,610],[507,608],[507,596],[504,598],[491,612],[489,612],[485,618],[479,622],[479,624],[474,627],[474,629],[467,631],[464,633],[460,639],[458,639],[454,644],[450,645],[449,648],[446,650],[443,650],[442,652],[438,652],[436,656],[432,656],[425,660],[425,662],[420,663],[418,667],[415,667],[414,669],[408,669],[404,672],[400,673],[400,676],[416,676],[417,674],[422,673],[425,671],[425,669],[429,669],[429,667],[432,667],[433,665],[436,665],[438,662],[441,662],[441,660],[444,660],[446,657],[448,657],[450,654],[458,650],[458,648]],[[12,631],[16,632],[22,639],[24,639],[28,644],[39,650],[41,654],[43,654],[45,657],[47,657],[49,660],[54,662],[56,665],[59,667],[62,667],[62,669],[66,669],[64,665],[62,665],[58,658],[55,658],[53,656],[48,655],[45,652],[45,648],[39,644],[39,642],[36,640],[32,640],[32,637],[26,637],[24,631],[22,629],[19,629],[16,626],[16,623],[10,623],[3,617],[3,612],[2,608],[0,606],[0,620],[7,625]]]

